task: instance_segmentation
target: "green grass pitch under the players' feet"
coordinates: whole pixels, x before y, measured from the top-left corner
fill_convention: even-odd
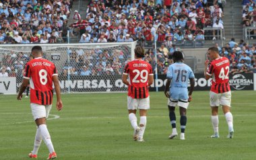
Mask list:
[[[145,143],[132,139],[126,93],[63,94],[63,110],[57,112],[55,101],[47,124],[57,159],[251,160],[256,157],[255,97],[255,91],[232,91],[232,139],[226,138],[228,126],[222,110],[220,138],[209,138],[213,133],[209,91],[193,93],[193,102],[187,110],[185,141],[179,140],[179,136],[168,139],[172,128],[163,92],[150,93]],[[15,95],[0,95],[0,159],[29,159],[28,153],[34,145],[36,126],[29,99],[18,102],[15,98]],[[42,143],[38,159],[46,159],[48,154]]]

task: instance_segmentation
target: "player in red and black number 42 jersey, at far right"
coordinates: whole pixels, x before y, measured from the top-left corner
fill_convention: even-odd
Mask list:
[[[230,112],[231,92],[229,86],[229,60],[219,55],[219,50],[215,46],[208,49],[210,61],[205,61],[205,79],[212,77],[212,87],[210,91],[210,106],[212,107],[212,126],[214,135],[212,138],[219,138],[219,118],[218,107],[222,105],[222,110],[228,123],[228,138],[233,138],[233,116]],[[209,66],[209,67],[208,67]],[[207,69],[208,68],[208,69]]]

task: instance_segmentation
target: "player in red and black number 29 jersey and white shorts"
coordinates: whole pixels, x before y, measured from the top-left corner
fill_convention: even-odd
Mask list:
[[[150,63],[143,61],[145,50],[137,46],[134,50],[135,60],[127,63],[123,71],[122,81],[128,85],[127,108],[129,120],[134,129],[133,139],[143,142],[143,134],[147,123],[147,110],[150,109],[148,87],[154,81],[154,74]],[[128,79],[129,77],[129,79]],[[139,109],[139,126],[137,125],[136,111]]]

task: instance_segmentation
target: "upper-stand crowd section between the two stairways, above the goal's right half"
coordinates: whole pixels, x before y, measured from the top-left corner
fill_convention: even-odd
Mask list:
[[[154,36],[166,43],[205,40],[205,34],[212,38],[215,32],[205,33],[204,27],[223,28],[219,0],[92,0],[86,13],[84,20],[77,19],[79,13],[74,16],[78,22],[71,33],[81,36],[79,42],[150,42]]]

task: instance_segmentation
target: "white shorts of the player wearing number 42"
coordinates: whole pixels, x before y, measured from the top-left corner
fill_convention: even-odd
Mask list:
[[[231,104],[231,92],[227,91],[225,93],[214,93],[210,91],[210,106],[211,107],[218,107],[222,106],[230,106]]]

